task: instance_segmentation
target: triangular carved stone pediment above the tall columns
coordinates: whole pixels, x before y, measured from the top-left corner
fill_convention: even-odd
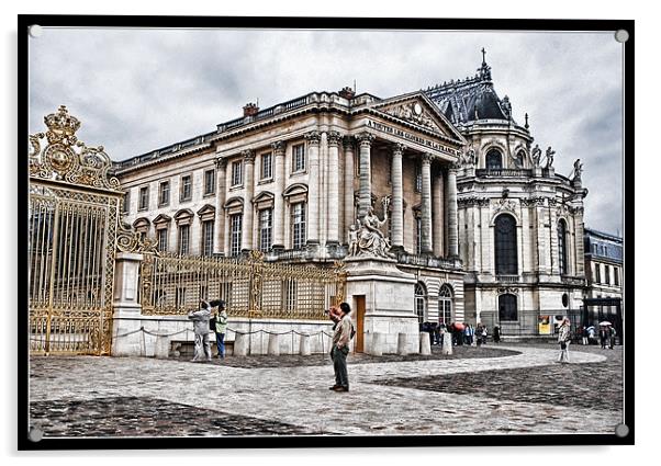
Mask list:
[[[379,101],[372,109],[390,117],[463,143],[459,130],[422,92]]]

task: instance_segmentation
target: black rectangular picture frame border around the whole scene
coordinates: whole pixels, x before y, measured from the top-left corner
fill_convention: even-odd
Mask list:
[[[625,166],[626,204],[634,205],[634,69],[635,69],[635,22],[632,20],[489,20],[489,19],[397,19],[397,18],[267,18],[267,16],[124,16],[124,15],[52,15],[21,14],[18,16],[19,31],[19,88],[18,88],[18,140],[29,136],[29,34],[30,25],[42,26],[85,26],[85,27],[267,27],[267,29],[347,29],[347,30],[507,30],[507,31],[608,31],[626,30],[628,41],[624,44],[624,150],[628,157]],[[19,147],[23,147],[19,144]],[[19,149],[16,155],[18,212],[27,211],[27,158]],[[634,341],[634,208],[625,212],[626,269],[624,284],[627,289],[626,341]],[[27,249],[26,225],[18,221],[19,251]],[[27,276],[25,264],[20,264],[19,303],[27,302]],[[152,448],[282,448],[282,447],[356,447],[356,446],[514,446],[514,445],[632,445],[635,444],[634,412],[634,367],[635,348],[628,344],[624,356],[625,424],[628,434],[557,434],[557,435],[406,435],[406,436],[351,436],[338,443],[332,436],[264,436],[264,437],[126,437],[126,439],[49,439],[40,442],[29,440],[29,342],[27,312],[25,306],[18,309],[18,448],[22,451],[46,450],[152,450]]]

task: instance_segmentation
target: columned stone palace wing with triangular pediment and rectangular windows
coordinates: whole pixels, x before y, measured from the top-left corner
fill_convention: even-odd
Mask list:
[[[422,92],[385,100],[321,92],[119,162],[114,172],[127,193],[125,220],[179,253],[258,249],[268,261],[330,263],[350,259],[351,226],[365,225],[368,211],[388,216],[389,264],[414,277],[402,282],[391,316],[401,322],[376,323],[383,309],[371,273],[365,282],[350,275],[347,300],[367,294],[366,332],[385,331],[388,351],[406,333],[414,352],[418,321],[438,318],[440,284],[452,289],[452,320],[463,320],[452,167],[464,143]],[[418,314],[416,284],[428,303]]]

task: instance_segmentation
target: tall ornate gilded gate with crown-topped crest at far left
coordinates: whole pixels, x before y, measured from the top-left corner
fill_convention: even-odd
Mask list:
[[[135,241],[120,225],[123,193],[64,105],[44,122],[30,136],[30,353],[109,354],[115,251]]]

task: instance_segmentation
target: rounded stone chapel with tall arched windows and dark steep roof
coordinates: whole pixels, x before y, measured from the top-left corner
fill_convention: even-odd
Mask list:
[[[554,151],[533,146],[528,116],[513,120],[485,61],[474,78],[427,93],[467,139],[457,170],[466,320],[542,333],[540,316],[573,315],[584,297],[580,161],[571,178],[554,173]]]

